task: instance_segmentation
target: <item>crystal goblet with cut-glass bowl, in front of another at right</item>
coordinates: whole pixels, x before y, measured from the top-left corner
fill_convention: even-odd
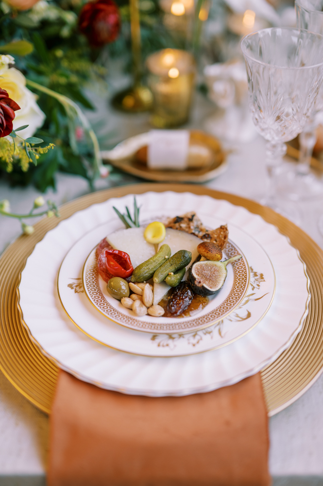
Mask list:
[[[315,111],[323,81],[323,36],[301,29],[263,29],[246,35],[241,49],[252,118],[267,140],[270,186],[265,204],[284,213],[276,196],[277,183],[284,187],[285,142],[302,132]]]

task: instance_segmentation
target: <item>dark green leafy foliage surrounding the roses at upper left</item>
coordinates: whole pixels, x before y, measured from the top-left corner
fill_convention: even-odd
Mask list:
[[[94,109],[83,88],[86,83],[102,81],[106,69],[97,61],[99,51],[91,50],[86,38],[78,32],[81,7],[81,0],[41,0],[31,10],[17,12],[1,2],[0,53],[14,54],[15,67],[28,80],[63,95],[63,100],[67,97],[86,109]],[[21,158],[17,152],[9,164],[0,153],[0,177],[12,185],[32,183],[40,191],[55,187],[58,170],[81,175],[92,183],[98,175],[97,155],[91,133],[85,133],[82,140],[75,138],[75,129],[84,124],[84,119],[79,119],[78,107],[69,106],[67,111],[61,99],[34,86],[28,87],[37,94],[37,104],[46,115],[43,127],[34,137],[44,139],[46,145],[54,143],[55,147],[43,155],[38,152],[37,166],[29,164],[21,147],[17,148]],[[30,157],[35,163],[34,156]]]

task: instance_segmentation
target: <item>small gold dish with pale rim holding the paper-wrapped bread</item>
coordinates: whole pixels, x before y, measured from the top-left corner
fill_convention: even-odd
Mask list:
[[[103,160],[107,160],[109,164],[113,165],[117,169],[127,172],[128,174],[141,177],[155,182],[194,182],[202,183],[218,177],[227,168],[226,154],[221,149],[221,144],[218,139],[198,130],[192,130],[191,139],[195,142],[202,142],[205,146],[210,148],[214,153],[214,161],[208,167],[201,169],[187,169],[185,171],[170,171],[170,170],[153,170],[149,167],[136,161],[132,156],[128,159],[112,160],[104,155],[102,152]]]

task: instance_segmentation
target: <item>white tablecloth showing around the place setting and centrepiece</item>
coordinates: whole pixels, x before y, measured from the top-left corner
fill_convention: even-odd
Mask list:
[[[148,115],[110,113],[97,99],[97,119],[104,115],[111,143],[149,129]],[[201,129],[205,113],[214,108],[202,98],[196,104],[189,126]],[[228,156],[228,170],[207,187],[259,200],[264,193],[266,171],[264,141],[257,137],[248,144],[233,148]],[[122,182],[138,182],[124,177],[119,181],[100,180],[96,189],[112,187]],[[48,191],[46,198],[65,203],[89,191],[84,179],[58,174],[57,192]],[[9,188],[0,181],[0,200],[9,199],[13,211],[25,212],[39,195],[34,188]],[[322,200],[299,204],[302,228],[323,247],[317,229],[317,218],[323,212]],[[16,220],[0,216],[0,253],[20,234]],[[323,278],[323,276],[322,276]],[[48,417],[34,407],[0,373],[0,486],[44,483],[48,448]],[[323,376],[293,403],[270,419],[270,470],[275,486],[323,485]],[[19,475],[22,475],[19,478]],[[29,478],[28,478],[29,476]],[[282,478],[281,476],[311,476]],[[316,476],[316,477],[314,477]]]

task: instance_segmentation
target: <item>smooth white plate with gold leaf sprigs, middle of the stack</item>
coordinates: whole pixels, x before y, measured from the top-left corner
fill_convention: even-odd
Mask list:
[[[204,221],[203,215],[201,217]],[[212,224],[213,227],[218,227],[223,224],[223,220],[212,217]],[[86,233],[83,238],[75,243],[63,260],[58,276],[59,297],[72,322],[85,334],[106,346],[134,354],[164,357],[209,351],[210,349],[226,346],[253,329],[266,314],[272,303],[275,292],[275,275],[268,255],[250,235],[247,235],[237,226],[230,224],[229,234],[231,239],[238,245],[238,248],[246,250],[244,260],[249,262],[252,272],[249,292],[240,301],[240,304],[235,306],[234,312],[229,313],[226,318],[219,320],[216,324],[207,325],[204,317],[210,312],[207,308],[209,306],[211,310],[216,308],[216,303],[210,301],[204,309],[204,314],[201,312],[196,315],[196,317],[199,317],[199,321],[196,319],[195,327],[197,329],[191,332],[183,333],[175,330],[168,331],[165,335],[165,333],[158,333],[158,331],[141,332],[124,329],[123,326],[119,326],[112,320],[107,319],[103,312],[98,312],[94,305],[89,305],[90,299],[86,298],[85,295],[86,288],[83,287],[81,289],[80,287],[82,267],[84,266],[86,269],[84,260],[88,248],[92,248],[93,245],[101,241],[110,228],[111,222],[109,221]],[[231,243],[231,247],[234,247],[234,244]],[[95,253],[95,249],[91,252],[91,255],[92,253]],[[241,267],[243,268],[242,265]],[[230,267],[228,267],[228,270],[230,270]],[[244,274],[246,274],[246,277],[247,272],[245,271]],[[94,286],[94,290],[96,291],[99,285],[99,278],[96,272],[95,275],[97,284]],[[233,279],[232,269],[231,277]],[[84,280],[85,278],[83,278],[83,282]],[[118,300],[108,297],[105,289],[106,283],[102,279],[100,283],[101,293],[109,299],[110,305],[116,310],[124,312],[127,316],[126,312],[128,310]],[[232,286],[232,281],[230,285]],[[84,292],[79,292],[80,290],[84,290]],[[221,289],[221,292],[222,290],[225,289]],[[219,293],[220,296],[221,292]],[[224,297],[226,295],[227,293],[224,293]],[[221,301],[223,301],[223,298]],[[105,301],[102,300],[102,302],[104,303]],[[128,312],[131,315],[132,311],[129,310]],[[175,323],[181,323],[178,319],[171,320],[175,321]],[[158,317],[155,318],[155,321],[158,324]],[[167,318],[164,321],[167,322]],[[202,328],[198,329],[198,323],[201,321]],[[192,327],[194,326],[194,321],[191,322],[191,325]]]

